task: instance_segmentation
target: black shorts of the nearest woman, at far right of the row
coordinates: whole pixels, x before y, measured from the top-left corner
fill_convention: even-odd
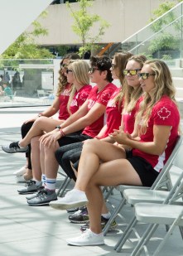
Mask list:
[[[142,157],[132,156],[132,151],[126,152],[126,155],[128,162],[130,162],[135,171],[137,171],[142,181],[142,186],[152,186],[159,172],[155,171],[152,165]]]

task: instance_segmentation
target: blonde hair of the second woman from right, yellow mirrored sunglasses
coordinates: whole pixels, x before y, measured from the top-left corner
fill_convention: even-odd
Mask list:
[[[146,56],[143,55],[137,55],[132,56],[129,58],[128,61],[134,60],[138,64],[140,64],[140,67],[142,68],[143,63],[147,60]],[[123,113],[130,113],[132,112],[132,109],[135,108],[135,105],[137,104],[137,100],[142,95],[142,88],[140,86],[137,86],[136,88],[133,88],[132,86],[129,86],[127,84],[124,85],[124,105],[123,105]]]

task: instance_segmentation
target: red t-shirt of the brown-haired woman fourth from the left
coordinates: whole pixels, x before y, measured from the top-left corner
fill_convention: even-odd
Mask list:
[[[104,131],[104,134],[99,138],[108,137],[109,133],[113,133],[113,129],[118,129],[121,125],[122,118],[122,105],[119,106],[118,102],[114,102],[116,95],[119,93],[121,88],[117,88],[111,98],[108,100],[108,104],[106,107],[106,115],[107,115],[107,128]]]

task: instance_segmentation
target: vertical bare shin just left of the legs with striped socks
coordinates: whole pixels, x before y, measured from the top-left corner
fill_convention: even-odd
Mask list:
[[[40,136],[31,138],[31,166],[33,178],[41,181]]]

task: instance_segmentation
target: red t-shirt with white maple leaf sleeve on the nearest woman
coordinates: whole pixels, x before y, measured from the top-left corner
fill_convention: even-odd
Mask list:
[[[141,121],[142,122],[142,121]],[[176,139],[178,137],[178,128],[180,123],[180,114],[176,104],[166,95],[162,96],[161,99],[152,108],[152,114],[147,124],[147,132],[140,136],[141,142],[152,142],[153,141],[153,126],[154,125],[166,125],[171,126],[171,133],[168,138],[165,152],[161,156],[148,154],[138,149],[132,150],[133,156],[139,156],[151,163],[152,167],[156,171],[161,171],[164,167],[168,157],[170,157],[173,147],[175,147]]]

